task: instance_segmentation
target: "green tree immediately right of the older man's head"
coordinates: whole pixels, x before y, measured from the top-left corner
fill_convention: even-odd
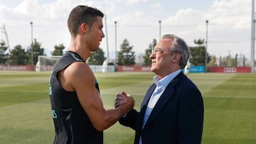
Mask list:
[[[194,40],[194,43],[198,46],[196,47],[189,47],[191,52],[190,62],[191,65],[206,65],[206,46],[203,45],[204,39]],[[207,63],[210,62],[210,55],[207,52]]]

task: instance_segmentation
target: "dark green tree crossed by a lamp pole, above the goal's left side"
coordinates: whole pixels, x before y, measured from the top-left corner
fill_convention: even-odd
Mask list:
[[[41,43],[38,43],[36,39],[34,39],[33,45],[31,44],[26,52],[28,57],[28,65],[31,64],[31,48],[33,48],[33,65],[36,65],[38,55],[46,55],[46,53],[44,52],[44,48],[41,48]]]

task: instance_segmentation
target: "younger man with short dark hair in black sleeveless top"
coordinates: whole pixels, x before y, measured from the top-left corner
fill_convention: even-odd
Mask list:
[[[102,144],[109,128],[134,106],[132,96],[117,109],[105,110],[97,79],[86,60],[98,50],[103,13],[89,6],[76,6],[69,15],[71,43],[56,62],[50,76],[50,103],[55,125],[53,143]]]

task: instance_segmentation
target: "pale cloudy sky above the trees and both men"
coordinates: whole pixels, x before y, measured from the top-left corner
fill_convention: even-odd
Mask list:
[[[115,51],[114,21],[117,21],[117,50],[127,38],[136,55],[143,55],[154,38],[159,40],[159,20],[161,35],[178,35],[189,46],[194,46],[195,39],[206,39],[208,20],[210,55],[235,57],[238,54],[250,59],[251,3],[245,0],[0,0],[0,28],[6,27],[11,48],[15,45],[27,48],[31,44],[30,22],[33,21],[33,38],[50,54],[54,45],[63,43],[68,48],[68,13],[82,4],[97,7],[106,14],[107,38],[100,47],[106,56],[109,49],[110,58]],[[0,33],[1,39],[6,40],[4,33]]]

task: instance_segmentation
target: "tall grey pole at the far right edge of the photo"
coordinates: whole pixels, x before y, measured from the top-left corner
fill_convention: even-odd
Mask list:
[[[254,73],[255,60],[255,0],[252,0],[252,29],[251,29],[251,65],[252,73]]]

